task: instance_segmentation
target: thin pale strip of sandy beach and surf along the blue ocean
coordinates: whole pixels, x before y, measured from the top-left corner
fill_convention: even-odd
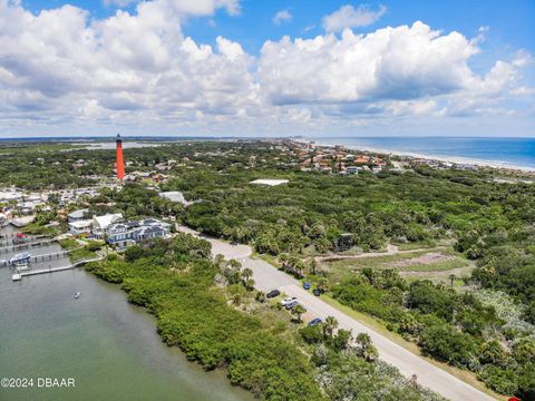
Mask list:
[[[310,143],[310,139],[305,139],[307,143]],[[343,146],[347,149],[351,150],[359,150],[364,153],[377,153],[377,154],[385,154],[385,155],[392,155],[392,156],[400,156],[400,157],[411,157],[411,158],[421,158],[427,160],[437,160],[442,163],[451,163],[451,164],[469,164],[477,167],[486,167],[486,168],[494,168],[494,169],[507,169],[513,172],[522,172],[522,173],[535,173],[534,167],[527,166],[517,166],[513,165],[509,162],[492,162],[485,159],[475,159],[468,157],[458,157],[458,156],[431,156],[431,155],[424,155],[415,151],[403,151],[403,150],[391,150],[391,149],[380,149],[373,148],[369,146],[361,146],[361,145],[344,145],[343,143],[333,144],[333,143],[317,143],[320,147],[330,147],[333,148],[335,146]]]

